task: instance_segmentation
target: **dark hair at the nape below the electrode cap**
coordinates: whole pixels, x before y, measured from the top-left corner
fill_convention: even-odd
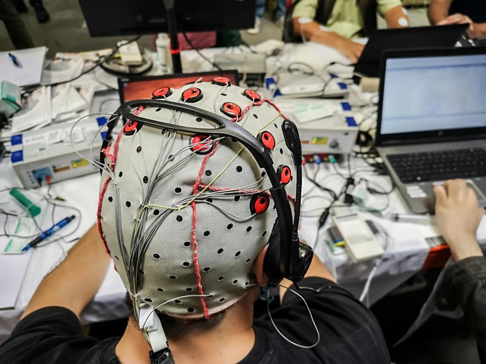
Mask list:
[[[135,314],[133,312],[132,299],[130,298],[130,294],[128,292],[125,296],[125,305],[127,306],[128,312],[130,313],[130,319],[136,322]],[[204,333],[213,330],[221,323],[221,321],[223,321],[226,310],[212,314],[209,320],[178,319],[176,317],[172,317],[158,311],[156,312],[158,318],[160,319],[160,323],[164,328],[164,332],[167,338],[171,340],[179,340],[184,335],[188,335],[194,332]]]

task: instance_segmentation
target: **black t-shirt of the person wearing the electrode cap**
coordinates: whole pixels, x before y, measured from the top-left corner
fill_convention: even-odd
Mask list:
[[[389,363],[388,350],[373,314],[349,292],[329,280],[307,278],[298,292],[311,309],[320,333],[312,349],[298,348],[282,338],[268,317],[254,321],[255,344],[241,363]],[[295,289],[295,288],[294,288]],[[288,291],[282,306],[272,311],[282,334],[307,346],[316,332],[302,300]],[[83,336],[76,315],[63,307],[46,307],[21,320],[0,346],[2,363],[118,364],[119,338],[103,341]],[[148,355],[148,353],[147,353]],[[176,363],[177,364],[177,363]]]

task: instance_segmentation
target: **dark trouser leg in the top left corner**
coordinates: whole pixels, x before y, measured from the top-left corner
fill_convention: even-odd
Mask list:
[[[25,28],[24,22],[15,9],[12,0],[0,0],[0,20],[4,22],[10,39],[16,49],[34,47],[29,32],[27,31],[27,28]]]

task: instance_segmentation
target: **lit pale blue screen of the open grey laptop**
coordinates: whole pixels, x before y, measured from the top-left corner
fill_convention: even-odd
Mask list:
[[[486,126],[486,54],[389,58],[381,134]]]

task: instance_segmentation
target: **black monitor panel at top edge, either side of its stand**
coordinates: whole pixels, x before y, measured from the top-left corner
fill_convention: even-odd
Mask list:
[[[163,0],[79,0],[90,35],[168,33]],[[256,0],[176,0],[179,32],[253,27]]]

